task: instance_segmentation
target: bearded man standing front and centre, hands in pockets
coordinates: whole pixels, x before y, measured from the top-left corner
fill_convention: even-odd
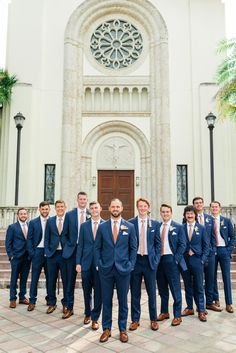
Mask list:
[[[109,211],[111,218],[99,226],[95,240],[95,264],[100,275],[103,304],[100,342],[106,342],[111,336],[114,285],[119,302],[120,341],[127,342],[127,296],[137,255],[137,238],[134,225],[121,218],[123,205],[119,199],[111,200]]]

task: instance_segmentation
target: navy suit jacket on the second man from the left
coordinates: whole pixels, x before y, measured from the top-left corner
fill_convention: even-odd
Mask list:
[[[35,250],[42,240],[42,225],[40,216],[32,219],[29,222],[29,228],[27,233],[27,249],[29,253],[29,257],[32,258],[34,256]]]

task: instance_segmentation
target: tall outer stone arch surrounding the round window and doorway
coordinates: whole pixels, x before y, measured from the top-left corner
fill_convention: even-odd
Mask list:
[[[72,204],[84,179],[81,170],[83,41],[93,22],[112,14],[140,23],[148,36],[151,172],[146,182],[157,211],[162,201],[171,201],[168,34],[163,17],[147,0],[87,0],[68,21],[64,42],[61,195]]]

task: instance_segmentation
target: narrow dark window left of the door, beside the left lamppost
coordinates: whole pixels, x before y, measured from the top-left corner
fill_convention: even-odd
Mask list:
[[[54,204],[56,164],[45,164],[44,200]]]

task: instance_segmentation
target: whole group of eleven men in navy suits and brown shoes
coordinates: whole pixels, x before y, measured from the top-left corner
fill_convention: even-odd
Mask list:
[[[235,244],[231,221],[220,215],[218,201],[210,205],[211,214],[203,212],[201,197],[184,209],[184,224],[172,219],[170,205],[160,207],[161,222],[151,219],[150,203],[145,198],[136,202],[138,215],[125,221],[123,205],[112,199],[110,218],[101,218],[97,201],[89,204],[87,194],[79,192],[77,208],[66,212],[63,200],[55,203],[55,213],[49,217],[47,202],[39,205],[40,215],[27,224],[27,212],[18,210],[18,221],[8,227],[6,250],[11,261],[10,307],[16,307],[17,279],[20,277],[19,303],[35,309],[37,284],[42,268],[46,278],[47,314],[57,308],[56,282],[60,272],[63,284],[63,319],[74,314],[76,274],[81,273],[84,293],[84,324],[92,321],[99,328],[102,311],[106,342],[112,329],[114,288],[118,297],[120,341],[127,342],[127,296],[131,293],[130,331],[137,330],[141,317],[141,288],[144,278],[148,295],[150,328],[158,330],[158,321],[169,319],[169,291],[173,296],[172,326],[178,326],[183,316],[193,315],[193,301],[198,318],[205,322],[207,311],[222,311],[217,288],[217,265],[220,263],[225,292],[226,310],[233,313],[230,281],[230,256]],[[32,261],[30,298],[26,299],[26,282]],[[184,281],[186,308],[182,311],[180,275]],[[161,298],[157,313],[156,284]],[[205,292],[204,292],[205,284]]]

